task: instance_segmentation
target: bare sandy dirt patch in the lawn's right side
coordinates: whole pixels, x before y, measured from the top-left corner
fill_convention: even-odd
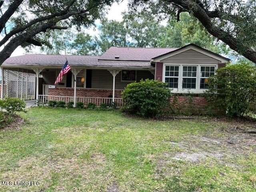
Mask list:
[[[168,164],[172,164],[175,160],[202,163],[207,158],[226,166],[239,168],[239,165],[230,163],[230,160],[236,159],[239,155],[248,155],[251,147],[256,147],[256,134],[233,133],[218,138],[188,135],[178,142],[164,141],[164,144],[170,148],[178,148],[179,152],[163,153],[157,160],[157,173],[165,170],[165,174],[168,174],[170,172]]]

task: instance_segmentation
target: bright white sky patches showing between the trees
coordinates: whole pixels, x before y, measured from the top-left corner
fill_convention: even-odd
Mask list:
[[[128,0],[123,0],[122,2],[120,2],[120,4],[117,4],[117,3],[112,4],[112,6],[110,7],[110,10],[108,11],[108,14],[106,15],[106,18],[108,18],[108,20],[121,21],[122,12],[124,11],[128,11]],[[100,24],[100,20],[96,20],[95,24],[96,26],[98,26]],[[93,28],[85,29],[84,31],[90,35],[95,35],[98,33],[98,31]],[[41,53],[40,48],[36,46],[36,48],[33,51],[30,51],[30,53],[40,54]],[[18,48],[16,48],[16,50],[14,50],[11,57],[24,55],[24,54],[26,54],[25,50],[19,46]]]

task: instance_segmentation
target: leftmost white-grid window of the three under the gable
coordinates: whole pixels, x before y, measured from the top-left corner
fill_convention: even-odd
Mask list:
[[[165,82],[168,88],[178,88],[179,66],[165,66]]]

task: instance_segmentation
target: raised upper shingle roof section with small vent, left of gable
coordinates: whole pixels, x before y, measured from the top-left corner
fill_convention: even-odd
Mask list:
[[[178,48],[134,48],[134,47],[110,47],[100,60],[129,60],[129,61],[150,61],[151,58],[166,54]],[[119,58],[115,58],[119,56]]]

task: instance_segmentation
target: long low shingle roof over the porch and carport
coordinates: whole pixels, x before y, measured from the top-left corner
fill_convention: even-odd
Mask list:
[[[72,66],[120,66],[150,67],[150,62],[99,62],[100,56],[26,54],[10,57],[3,64],[16,65],[60,65],[66,62]]]

